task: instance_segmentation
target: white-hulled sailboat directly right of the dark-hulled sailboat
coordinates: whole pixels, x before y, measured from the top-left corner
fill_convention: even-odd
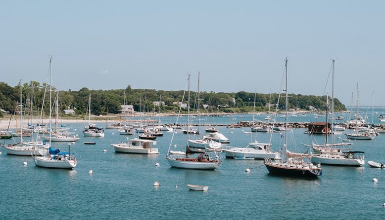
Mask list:
[[[343,165],[343,166],[361,166],[365,164],[364,156],[357,156],[356,154],[363,154],[362,151],[347,151],[343,152],[341,148],[334,148],[340,146],[351,145],[351,143],[334,143],[334,64],[335,60],[332,61],[332,134],[331,134],[331,144],[328,144],[328,132],[326,133],[325,145],[318,146],[313,143],[313,150],[319,152],[319,155],[313,155],[311,162],[329,164],[329,165]],[[326,126],[328,126],[328,107],[326,108]],[[348,150],[350,150],[348,148]]]

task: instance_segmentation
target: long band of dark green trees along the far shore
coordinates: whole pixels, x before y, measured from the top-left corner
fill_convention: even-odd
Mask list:
[[[30,108],[31,99],[33,100],[34,111],[40,111],[44,100],[44,112],[49,112],[49,85],[40,84],[36,81],[24,83],[22,87],[22,102],[25,108]],[[56,99],[56,88],[52,89],[52,100]],[[33,91],[33,92],[32,92]],[[73,109],[76,114],[85,114],[88,107],[89,95],[91,94],[92,114],[119,113],[120,105],[133,105],[135,111],[151,112],[158,111],[159,107],[153,104],[154,101],[164,102],[161,105],[162,112],[178,112],[179,106],[174,102],[181,102],[185,91],[164,91],[155,89],[132,89],[130,85],[126,89],[113,90],[89,90],[81,88],[79,91],[59,91],[58,110]],[[31,96],[31,94],[33,94]],[[255,110],[267,111],[266,104],[277,104],[278,109],[283,111],[285,108],[285,95],[279,94],[260,94],[252,92],[200,92],[199,103],[201,112],[251,112],[253,111],[255,96]],[[317,110],[326,110],[327,96],[313,96],[289,94],[289,109],[310,110],[309,106]],[[197,93],[190,93],[190,105],[193,111],[197,110]],[[329,97],[330,99],[330,97]],[[13,113],[16,110],[17,103],[20,100],[20,86],[9,86],[7,83],[0,82],[0,108]],[[187,92],[183,102],[188,100]],[[52,104],[54,101],[52,101]],[[204,105],[206,108],[203,108]],[[274,111],[276,107],[272,106]],[[346,110],[345,106],[335,99],[335,110]],[[186,109],[185,109],[186,111]],[[35,113],[34,113],[35,114]],[[37,114],[37,113],[36,113]]]

